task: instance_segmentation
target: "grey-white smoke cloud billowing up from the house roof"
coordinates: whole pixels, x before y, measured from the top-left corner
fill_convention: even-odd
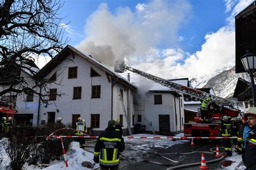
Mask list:
[[[160,42],[175,46],[189,12],[187,1],[153,0],[137,4],[135,11],[119,7],[116,13],[102,3],[87,19],[86,38],[77,47],[110,67],[115,60],[127,61],[131,56],[139,60]]]

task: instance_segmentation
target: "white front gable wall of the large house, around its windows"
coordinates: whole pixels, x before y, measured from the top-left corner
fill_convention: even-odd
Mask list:
[[[48,108],[41,108],[41,120],[47,121],[46,112],[56,112],[56,118],[62,117],[63,123],[71,123],[73,114],[80,114],[85,119],[86,126],[90,127],[91,114],[100,114],[100,128],[93,130],[104,130],[107,127],[107,121],[111,119],[111,83],[107,80],[105,72],[88,62],[79,55],[75,55],[73,61],[64,60],[55,69],[49,73],[49,77],[57,70],[57,83],[51,83],[49,88],[57,88],[57,93],[62,93],[61,98],[54,101],[55,104]],[[71,59],[71,58],[70,58]],[[78,67],[77,79],[68,79],[68,68]],[[91,67],[101,76],[90,77]],[[58,73],[59,72],[59,73]],[[100,98],[91,98],[91,86],[100,85]],[[82,87],[81,99],[73,100],[73,87]]]

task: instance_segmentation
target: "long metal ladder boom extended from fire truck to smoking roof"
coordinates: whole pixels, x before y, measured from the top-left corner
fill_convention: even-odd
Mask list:
[[[146,77],[147,79],[150,79],[154,82],[161,84],[162,86],[179,91],[180,93],[183,93],[183,94],[187,94],[187,95],[190,95],[193,97],[200,98],[202,100],[204,100],[205,98],[207,98],[211,95],[212,98],[214,98],[216,104],[227,105],[228,107],[234,108],[234,102],[231,100],[226,100],[225,98],[221,98],[221,97],[218,97],[218,96],[215,96],[212,94],[208,94],[204,91],[196,90],[196,89],[193,89],[190,87],[182,86],[181,84],[174,83],[174,82],[162,79],[160,77],[142,72],[138,69],[135,69],[135,68],[125,65],[124,62],[116,62],[116,66],[114,68],[115,72],[124,73],[126,70],[130,70],[133,73],[136,73],[143,77]]]

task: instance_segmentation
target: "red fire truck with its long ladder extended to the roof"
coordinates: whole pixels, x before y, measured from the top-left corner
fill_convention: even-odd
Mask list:
[[[126,70],[130,70],[133,73],[146,77],[147,79],[150,79],[172,90],[176,90],[180,93],[199,98],[199,100],[204,100],[207,97],[214,99],[214,102],[211,103],[211,106],[215,111],[212,113],[211,121],[201,121],[199,110],[197,116],[194,117],[193,122],[184,123],[184,135],[186,137],[218,137],[220,123],[223,116],[226,115],[229,117],[237,117],[239,114],[240,110],[238,109],[237,103],[232,100],[227,100],[226,98],[208,94],[205,91],[186,87],[181,84],[142,72],[138,69],[126,65],[124,61],[116,61],[116,65],[114,66],[115,72],[124,73]]]

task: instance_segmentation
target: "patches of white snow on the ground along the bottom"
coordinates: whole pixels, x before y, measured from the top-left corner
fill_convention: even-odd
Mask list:
[[[134,134],[134,137],[140,137],[140,136],[146,136],[146,137],[153,137],[155,135],[152,134]],[[159,135],[157,135],[159,136]],[[184,136],[183,133],[177,134],[176,137]],[[6,169],[9,166],[10,160],[8,158],[8,155],[6,155],[4,148],[2,146],[3,140],[0,140],[0,169]],[[188,140],[171,140],[171,139],[128,139],[125,138],[125,145],[126,150],[122,153],[122,157],[130,157],[130,158],[138,158],[139,155],[143,153],[149,153],[154,151],[154,148],[168,148],[176,144],[182,144],[187,143]],[[88,144],[89,145],[89,144]],[[91,145],[95,145],[95,143],[91,143]],[[90,151],[93,151],[93,147],[89,148]],[[89,161],[93,163],[93,153],[84,151],[82,148],[79,148],[79,143],[76,141],[73,141],[71,143],[70,150],[66,153],[66,158],[68,159],[68,168],[65,168],[64,160],[56,160],[52,161],[50,165],[44,169],[51,169],[51,170],[57,170],[57,169],[70,169],[70,170],[76,170],[76,169],[88,169],[85,167],[82,167],[81,163],[83,161]],[[234,169],[235,166],[238,165],[238,163],[241,161],[241,155],[238,155],[237,153],[233,152],[232,157],[225,158],[225,160],[231,160],[233,161],[233,164],[228,167],[223,167],[223,169]],[[99,164],[96,164],[94,168],[99,167]],[[121,168],[121,167],[120,167]],[[41,169],[38,166],[30,165],[25,166],[25,169],[27,170],[34,170],[34,169]],[[239,169],[245,169],[245,166],[240,166]]]

